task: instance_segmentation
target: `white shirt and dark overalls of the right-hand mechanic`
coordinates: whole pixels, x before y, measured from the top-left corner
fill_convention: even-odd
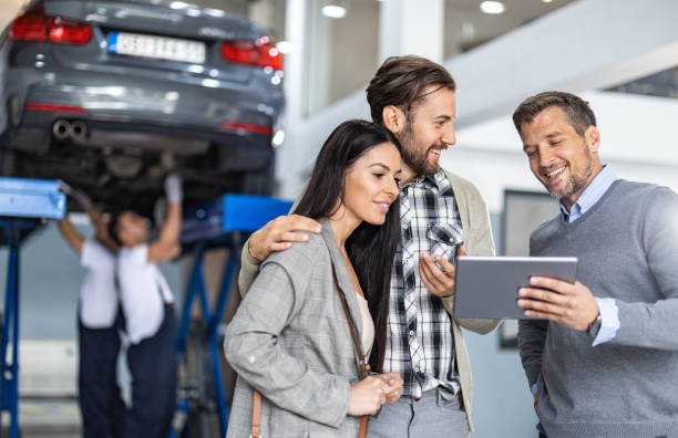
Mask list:
[[[132,407],[124,438],[166,438],[176,406],[176,317],[174,298],[148,246],[123,248],[117,281],[130,336]]]

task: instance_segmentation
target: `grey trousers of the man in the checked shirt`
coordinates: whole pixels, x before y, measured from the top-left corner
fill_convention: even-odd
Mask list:
[[[418,401],[403,396],[383,405],[368,421],[369,438],[469,438],[466,414],[456,397],[445,400],[438,390],[428,390]]]

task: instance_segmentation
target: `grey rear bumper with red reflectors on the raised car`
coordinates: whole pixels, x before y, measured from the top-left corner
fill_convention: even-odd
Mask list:
[[[100,129],[111,123],[115,129],[173,133],[199,132],[212,143],[268,143],[282,109],[282,94],[261,93],[254,84],[233,85],[199,77],[152,80],[111,73],[69,70],[43,72],[10,67],[6,96],[18,102],[19,114],[10,119],[22,127],[51,125],[59,118],[82,119]],[[115,85],[111,85],[115,84]],[[232,86],[233,85],[233,86]]]

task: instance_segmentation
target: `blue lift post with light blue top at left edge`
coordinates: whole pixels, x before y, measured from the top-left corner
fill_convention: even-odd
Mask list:
[[[0,178],[0,240],[9,248],[4,321],[0,338],[0,413],[10,414],[10,438],[19,438],[19,254],[42,219],[61,219],[65,195],[56,180]],[[8,350],[11,358],[8,357]]]

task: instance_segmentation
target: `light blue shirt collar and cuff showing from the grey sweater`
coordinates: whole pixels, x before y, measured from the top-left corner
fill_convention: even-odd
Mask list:
[[[617,179],[612,167],[608,165],[603,166],[603,170],[590,181],[586,189],[582,192],[577,201],[572,206],[569,212],[561,202],[561,212],[563,219],[567,223],[572,223],[579,219],[588,211],[602,197],[605,195],[607,189]],[[600,331],[594,340],[593,346],[609,342],[615,338],[617,332],[619,332],[619,309],[615,299],[596,299],[598,302],[598,310],[600,311]]]

